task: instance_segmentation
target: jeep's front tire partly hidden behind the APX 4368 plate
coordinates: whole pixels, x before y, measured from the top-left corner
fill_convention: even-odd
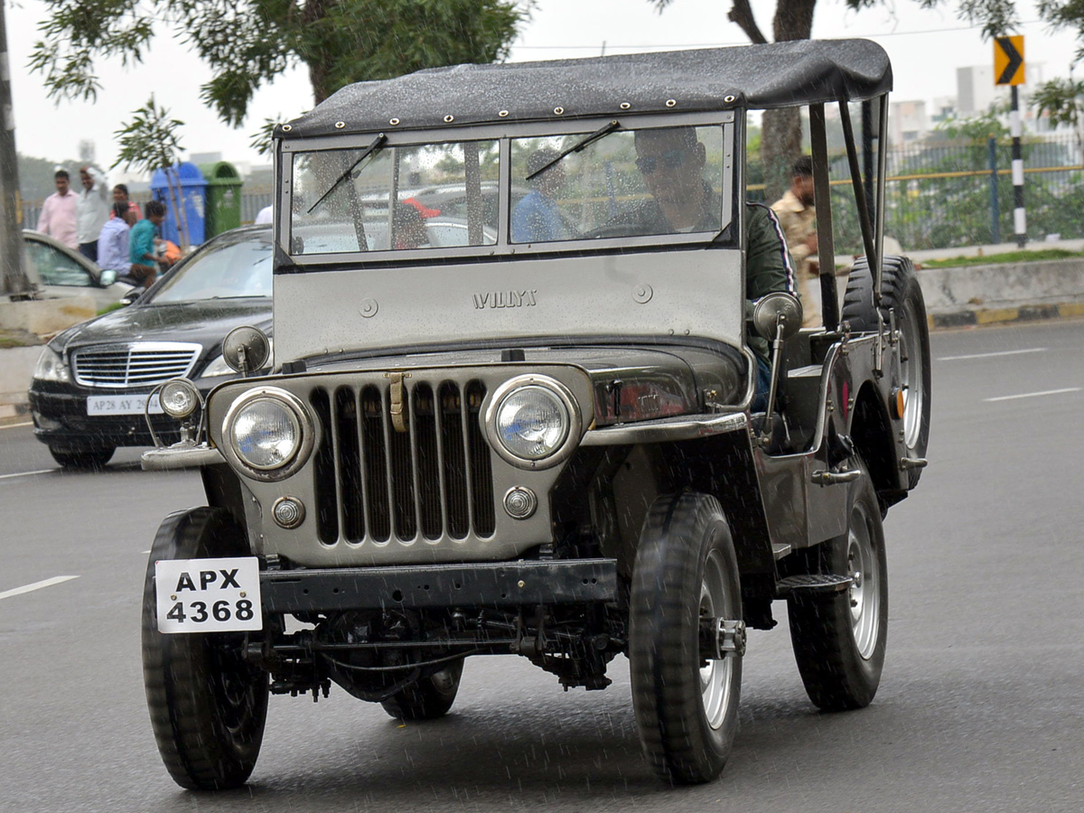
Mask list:
[[[158,632],[154,563],[246,556],[243,530],[221,508],[166,517],[155,535],[143,588],[143,683],[158,752],[190,790],[244,785],[263,740],[268,678],[244,659],[244,633]]]

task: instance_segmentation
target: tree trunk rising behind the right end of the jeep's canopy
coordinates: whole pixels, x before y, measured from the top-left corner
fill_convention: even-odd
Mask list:
[[[816,0],[777,0],[772,34],[776,42],[809,39]],[[735,4],[735,8],[737,5]],[[790,185],[795,159],[802,151],[802,120],[798,107],[764,111],[760,158],[764,165],[765,201],[771,204]]]

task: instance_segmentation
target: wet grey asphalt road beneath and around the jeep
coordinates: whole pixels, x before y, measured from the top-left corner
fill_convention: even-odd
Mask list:
[[[273,697],[250,785],[180,790],[145,710],[140,592],[158,522],[202,502],[198,480],[141,472],[132,451],[65,474],[29,428],[0,428],[0,810],[1079,811],[1081,348],[1081,322],[934,336],[931,465],[886,521],[876,700],[818,713],[776,605],[780,625],[751,636],[733,757],[696,788],[642,760],[623,660],[606,692],[566,694],[501,657],[468,660],[434,723],[338,688]],[[7,594],[56,577],[78,578]]]

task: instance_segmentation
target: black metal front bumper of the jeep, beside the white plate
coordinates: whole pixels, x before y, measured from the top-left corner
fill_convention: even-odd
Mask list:
[[[267,612],[515,607],[617,601],[617,559],[264,570]]]

